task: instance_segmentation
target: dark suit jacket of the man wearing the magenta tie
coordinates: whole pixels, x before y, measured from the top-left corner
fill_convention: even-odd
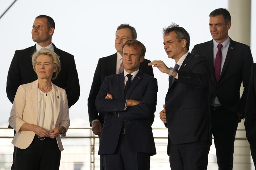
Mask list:
[[[191,54],[205,55],[210,61],[212,71],[210,76],[210,104],[217,96],[225,109],[244,114],[253,63],[250,47],[230,39],[219,82],[214,76],[213,40],[195,45]],[[244,92],[240,98],[239,91],[242,82]]]

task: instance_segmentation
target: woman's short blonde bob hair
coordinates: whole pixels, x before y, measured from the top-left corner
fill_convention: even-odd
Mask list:
[[[42,48],[41,50],[36,51],[32,55],[32,65],[33,65],[33,69],[35,72],[36,72],[37,57],[39,55],[48,55],[48,56],[52,57],[53,67],[55,69],[57,69],[56,72],[53,72],[53,74],[52,74],[52,80],[54,80],[60,72],[60,59],[59,59],[58,55],[56,53],[54,53],[52,50],[47,49],[47,48]]]

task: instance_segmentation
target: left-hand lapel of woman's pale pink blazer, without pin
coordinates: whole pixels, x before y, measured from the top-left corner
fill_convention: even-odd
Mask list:
[[[34,111],[36,124],[38,123],[38,80],[34,81],[32,83],[31,89],[30,89],[30,99],[31,99],[31,107]]]

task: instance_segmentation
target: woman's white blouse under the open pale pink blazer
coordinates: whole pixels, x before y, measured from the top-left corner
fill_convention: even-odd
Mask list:
[[[38,126],[47,132],[54,128],[53,93],[38,89]]]

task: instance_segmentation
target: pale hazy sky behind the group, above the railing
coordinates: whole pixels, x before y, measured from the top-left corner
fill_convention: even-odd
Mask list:
[[[12,3],[0,1],[0,14]],[[222,4],[222,5],[219,5]],[[138,40],[147,48],[145,58],[163,60],[167,66],[174,66],[174,60],[168,59],[163,48],[162,29],[174,22],[184,27],[190,34],[190,49],[195,44],[212,39],[209,32],[209,13],[216,8],[228,8],[227,0],[159,0],[138,1],[68,1],[68,0],[18,0],[0,19],[0,126],[8,124],[12,107],[6,97],[7,72],[17,49],[33,46],[31,38],[32,24],[36,16],[51,16],[56,24],[53,43],[57,48],[75,56],[80,81],[80,99],[71,107],[72,127],[89,127],[87,98],[93,74],[100,57],[116,52],[114,48],[116,27],[123,23],[134,26]],[[256,4],[252,2],[252,38],[255,39]],[[232,18],[232,16],[231,16]],[[235,29],[232,28],[231,29]],[[232,37],[231,37],[232,38]],[[235,40],[235,39],[234,39]],[[236,41],[236,40],[235,40]],[[256,41],[252,41],[253,56],[256,55]],[[255,58],[255,57],[254,57]],[[168,77],[154,68],[158,80],[158,100],[156,118],[153,127],[164,128],[159,119],[165,94],[168,90]]]

